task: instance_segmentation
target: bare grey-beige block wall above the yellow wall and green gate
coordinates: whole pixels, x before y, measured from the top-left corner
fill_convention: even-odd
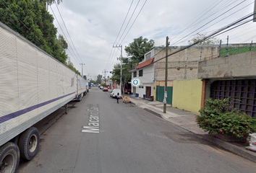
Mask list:
[[[184,47],[169,47],[168,54]],[[163,48],[155,48],[155,60],[166,56]],[[218,45],[197,45],[168,57],[168,81],[197,79],[198,62],[218,58]],[[155,80],[165,80],[166,60],[155,63]]]

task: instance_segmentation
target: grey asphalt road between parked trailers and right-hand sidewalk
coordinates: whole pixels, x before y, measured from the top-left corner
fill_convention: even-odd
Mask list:
[[[121,101],[121,100],[119,100]],[[74,105],[74,103],[72,103]],[[81,102],[38,123],[40,149],[18,173],[256,172],[256,164],[223,151],[93,87]]]

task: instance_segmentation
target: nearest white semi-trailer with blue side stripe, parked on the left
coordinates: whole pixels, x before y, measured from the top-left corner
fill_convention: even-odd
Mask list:
[[[20,157],[33,159],[39,144],[33,125],[83,95],[85,82],[0,22],[0,172],[16,172]]]

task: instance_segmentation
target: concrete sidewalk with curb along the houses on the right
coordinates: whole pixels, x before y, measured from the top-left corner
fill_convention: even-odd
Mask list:
[[[163,119],[168,120],[175,125],[179,125],[179,127],[195,133],[195,135],[199,136],[200,138],[204,138],[205,140],[210,141],[210,143],[213,143],[215,146],[221,147],[226,151],[230,151],[234,154],[242,156],[246,159],[249,159],[250,161],[256,162],[256,153],[248,151],[242,143],[229,143],[223,141],[219,138],[208,135],[207,132],[199,128],[197,123],[195,123],[195,113],[179,110],[171,107],[171,105],[167,105],[166,113],[163,113],[162,102],[151,102],[146,99],[137,97],[130,97],[130,100],[133,104],[137,105],[137,107],[147,110],[148,112],[151,112],[158,117],[162,117]]]

